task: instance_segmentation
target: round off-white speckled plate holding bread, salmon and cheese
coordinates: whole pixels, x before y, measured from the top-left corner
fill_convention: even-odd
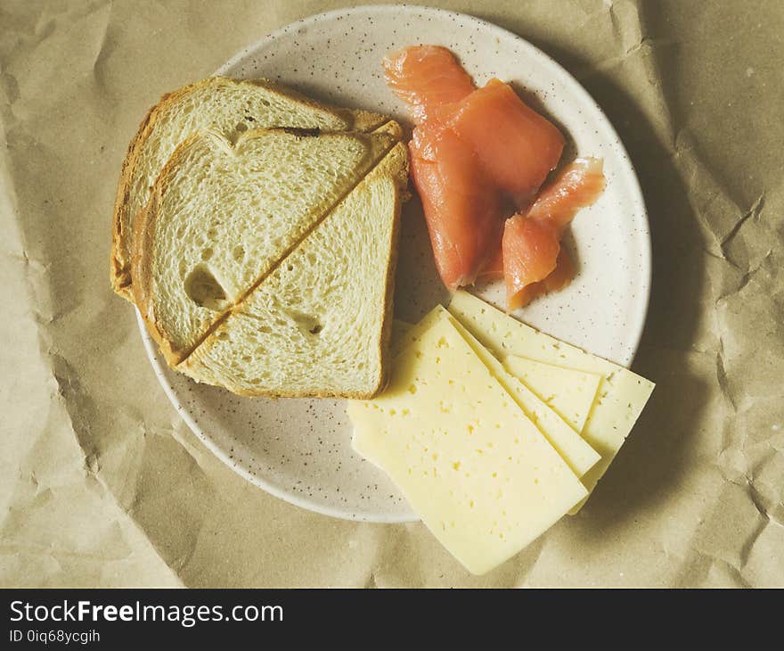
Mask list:
[[[567,241],[578,273],[567,290],[518,316],[562,340],[628,365],[649,298],[650,240],[640,187],[608,119],[566,70],[524,39],[484,21],[414,6],[369,6],[312,16],[264,37],[219,74],[279,79],[339,105],[387,112],[407,122],[381,77],[384,54],[404,45],[440,44],[483,84],[512,82],[568,134],[567,155],[602,156],[606,192],[582,211]],[[499,284],[478,288],[500,304]],[[446,298],[429,249],[421,207],[404,210],[396,316],[415,320]],[[387,477],[351,449],[340,400],[265,400],[193,383],[158,357],[140,329],[159,380],[177,411],[217,457],[260,488],[299,507],[372,522],[416,519]]]

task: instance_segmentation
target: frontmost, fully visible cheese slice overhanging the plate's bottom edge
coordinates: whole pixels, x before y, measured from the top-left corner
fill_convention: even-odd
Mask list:
[[[348,414],[355,449],[472,573],[517,554],[587,495],[446,319],[396,358],[386,391],[349,401]]]

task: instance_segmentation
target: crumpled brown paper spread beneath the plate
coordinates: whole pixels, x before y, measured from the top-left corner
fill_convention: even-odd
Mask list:
[[[653,235],[648,408],[579,515],[472,577],[421,524],[266,495],[200,444],[110,292],[110,209],[163,92],[331,2],[0,5],[5,586],[784,585],[784,6],[437,3],[578,78]]]

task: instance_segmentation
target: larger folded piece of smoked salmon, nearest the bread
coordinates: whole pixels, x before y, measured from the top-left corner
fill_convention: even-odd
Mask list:
[[[472,284],[499,249],[504,218],[558,163],[563,136],[501,81],[475,89],[444,47],[407,47],[384,71],[417,123],[411,172],[438,272],[451,289]]]

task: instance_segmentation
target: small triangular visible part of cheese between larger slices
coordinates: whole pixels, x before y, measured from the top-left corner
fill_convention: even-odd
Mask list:
[[[502,363],[511,375],[550,405],[575,432],[583,431],[601,375],[554,367],[517,355],[507,355],[502,358]]]

